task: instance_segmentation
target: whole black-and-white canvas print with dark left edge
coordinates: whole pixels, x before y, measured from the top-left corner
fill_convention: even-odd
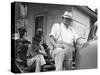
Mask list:
[[[98,9],[12,2],[11,72],[97,69]]]

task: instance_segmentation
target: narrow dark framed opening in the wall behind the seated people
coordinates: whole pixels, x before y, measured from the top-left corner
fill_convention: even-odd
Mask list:
[[[46,29],[47,29],[47,12],[34,14],[35,34],[38,28],[43,29],[44,40],[46,40]]]

